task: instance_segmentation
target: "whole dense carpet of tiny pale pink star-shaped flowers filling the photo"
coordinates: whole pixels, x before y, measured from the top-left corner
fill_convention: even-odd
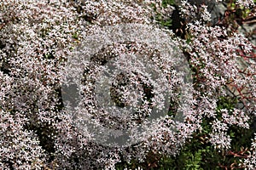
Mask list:
[[[233,153],[230,134],[255,123],[255,46],[212,25],[208,1],[165,2],[0,0],[0,169],[151,168],[204,132],[214,150]],[[183,37],[160,26],[174,10]],[[120,132],[130,145],[106,144]],[[247,169],[252,138],[234,155]]]

